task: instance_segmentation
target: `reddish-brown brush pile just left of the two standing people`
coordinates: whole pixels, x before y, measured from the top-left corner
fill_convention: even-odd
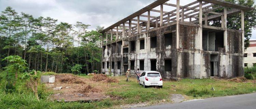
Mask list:
[[[117,79],[109,78],[105,74],[96,74],[91,78],[93,81],[118,82]]]

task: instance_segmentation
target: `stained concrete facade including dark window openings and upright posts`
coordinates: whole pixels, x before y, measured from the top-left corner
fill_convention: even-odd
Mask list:
[[[117,29],[116,41],[106,40],[102,46],[102,73],[125,75],[130,68],[135,75],[140,68],[141,72],[158,71],[167,79],[243,76],[243,29],[228,29],[222,23],[222,27],[202,25],[199,17],[199,24],[176,20],[159,26],[157,21],[148,28],[151,22],[147,22],[145,31],[129,29],[129,35],[124,31],[119,35]]]

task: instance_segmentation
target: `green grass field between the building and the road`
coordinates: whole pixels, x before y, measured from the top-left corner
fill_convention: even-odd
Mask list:
[[[1,74],[1,73],[0,73]],[[53,74],[53,73],[49,73]],[[90,79],[92,76],[80,76]],[[232,82],[224,79],[182,79],[180,81],[163,81],[163,88],[143,88],[137,83],[136,78],[126,82],[124,76],[111,77],[117,79],[118,83],[93,83],[92,86],[104,87],[105,95],[112,98],[100,102],[79,103],[79,102],[56,102],[49,99],[53,92],[46,90],[45,84],[39,85],[40,101],[37,101],[32,91],[26,87],[23,80],[16,84],[16,92],[5,94],[0,90],[0,108],[26,108],[26,109],[92,109],[92,108],[120,108],[120,105],[139,104],[146,102],[149,105],[156,103],[171,103],[171,94],[182,94],[186,99],[207,98],[215,96],[228,96],[252,93],[256,91],[256,81]],[[4,79],[1,80],[1,89]],[[215,91],[211,88],[214,87]],[[163,100],[165,99],[165,100]]]

